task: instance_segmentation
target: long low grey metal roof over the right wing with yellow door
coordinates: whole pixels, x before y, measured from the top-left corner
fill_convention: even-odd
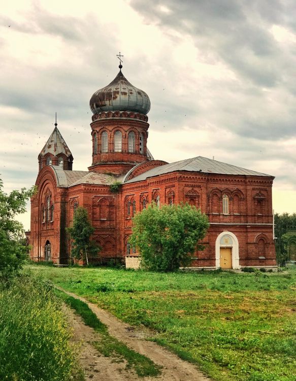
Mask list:
[[[149,171],[144,172],[141,175],[134,177],[133,179],[127,180],[126,183],[142,181],[146,180],[149,177],[159,176],[176,171],[273,177],[271,175],[267,175],[266,173],[255,172],[249,169],[234,166],[232,164],[218,162],[217,160],[212,160],[208,157],[198,156],[150,169]]]

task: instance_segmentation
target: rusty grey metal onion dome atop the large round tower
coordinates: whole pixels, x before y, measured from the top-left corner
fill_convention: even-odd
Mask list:
[[[150,100],[145,91],[133,86],[120,71],[108,86],[97,90],[89,101],[96,114],[106,111],[134,111],[144,115],[150,110]]]

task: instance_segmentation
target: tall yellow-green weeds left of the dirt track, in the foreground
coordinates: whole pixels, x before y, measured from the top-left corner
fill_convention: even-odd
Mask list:
[[[50,289],[50,282],[22,276],[0,290],[0,379],[76,378],[77,351],[61,303]]]

